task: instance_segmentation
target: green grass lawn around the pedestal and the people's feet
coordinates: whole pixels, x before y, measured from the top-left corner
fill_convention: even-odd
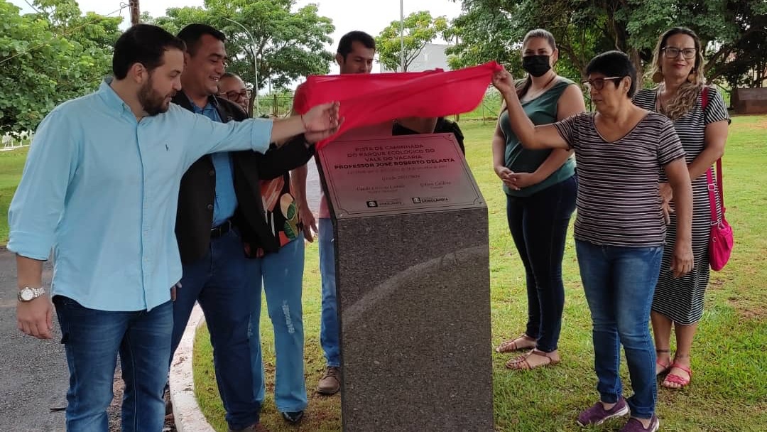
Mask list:
[[[524,331],[525,277],[506,226],[505,198],[491,168],[489,142],[494,124],[463,121],[461,127],[466,135],[467,160],[488,203],[492,338],[497,344]],[[693,346],[692,384],[683,391],[664,388],[658,391],[658,415],[663,430],[767,430],[765,135],[767,116],[735,117],[732,121],[724,181],[727,216],[735,229],[736,249],[726,269],[712,273],[706,313]],[[563,362],[555,368],[518,372],[503,367],[509,355],[493,355],[497,430],[578,430],[574,418],[597,400],[591,321],[572,236],[565,251],[564,277],[566,304],[560,341]],[[291,427],[276,411],[271,387],[275,370],[272,325],[264,309],[261,335],[270,387],[262,420],[270,430],[341,430],[340,397],[321,397],[314,393],[314,386],[324,371],[319,322],[318,251],[310,245],[304,272],[306,383],[310,394],[307,417],[301,426]],[[196,394],[210,423],[216,430],[225,431],[205,329],[198,332],[196,347]],[[625,363],[621,370],[627,383]],[[626,394],[630,394],[630,388]],[[621,421],[614,421],[588,430],[618,430],[621,426]]]

